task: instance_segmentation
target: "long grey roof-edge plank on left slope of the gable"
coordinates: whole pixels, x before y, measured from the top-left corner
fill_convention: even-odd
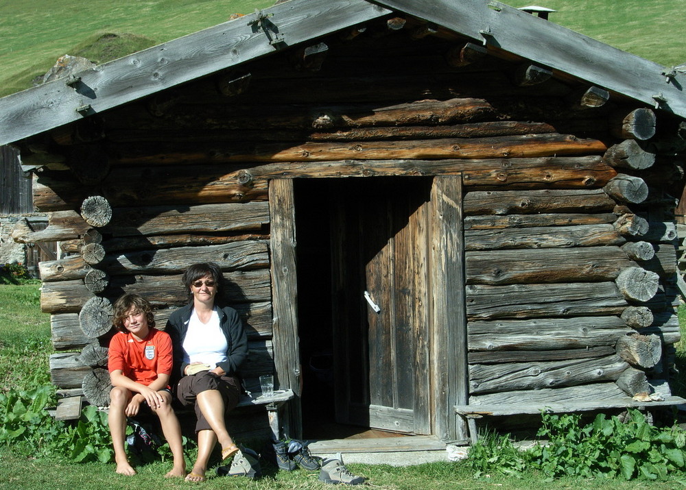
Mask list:
[[[291,0],[0,99],[0,145],[390,13],[365,0]]]

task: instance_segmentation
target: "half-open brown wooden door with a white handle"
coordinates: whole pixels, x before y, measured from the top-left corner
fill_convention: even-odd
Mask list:
[[[350,179],[331,189],[340,423],[431,433],[430,191],[422,177]]]

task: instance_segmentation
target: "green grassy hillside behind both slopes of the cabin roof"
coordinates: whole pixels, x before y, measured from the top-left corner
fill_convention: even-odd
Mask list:
[[[533,3],[558,10],[551,21],[619,49],[666,66],[686,62],[686,38],[681,34],[686,0]],[[273,4],[274,0],[2,0],[0,96],[29,88],[34,77],[66,53],[105,62],[222,23],[233,13],[247,14]]]

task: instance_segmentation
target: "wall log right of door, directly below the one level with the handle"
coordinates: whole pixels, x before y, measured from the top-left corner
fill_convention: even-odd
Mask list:
[[[470,321],[467,341],[470,351],[582,349],[614,347],[631,332],[614,316]]]

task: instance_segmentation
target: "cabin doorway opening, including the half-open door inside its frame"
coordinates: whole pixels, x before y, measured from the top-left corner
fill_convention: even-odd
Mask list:
[[[305,439],[431,434],[431,182],[294,182]]]

